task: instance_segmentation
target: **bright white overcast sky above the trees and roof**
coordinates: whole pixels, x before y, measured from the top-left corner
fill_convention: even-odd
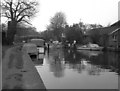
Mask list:
[[[72,25],[81,19],[84,23],[97,23],[103,26],[118,20],[120,0],[38,0],[39,13],[32,20],[37,31],[43,31],[56,12],[64,12],[67,23]]]

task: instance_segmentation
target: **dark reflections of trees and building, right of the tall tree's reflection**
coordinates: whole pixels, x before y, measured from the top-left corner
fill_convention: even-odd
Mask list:
[[[113,52],[99,54],[98,56],[88,57],[78,52],[64,51],[65,63],[70,69],[75,69],[79,73],[86,70],[89,75],[100,75],[106,70],[120,74],[119,61],[120,55]],[[83,60],[84,59],[84,60]],[[86,64],[84,64],[86,62]]]

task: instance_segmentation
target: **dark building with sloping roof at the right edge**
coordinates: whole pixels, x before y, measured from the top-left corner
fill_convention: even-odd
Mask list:
[[[92,40],[92,42],[96,40],[97,44],[106,49],[118,51],[120,50],[120,21],[108,27],[92,29],[86,36],[87,40]]]

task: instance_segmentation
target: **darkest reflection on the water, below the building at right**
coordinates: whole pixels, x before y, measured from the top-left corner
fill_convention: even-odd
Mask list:
[[[97,57],[91,57],[90,62],[91,64],[99,65],[103,69],[109,69],[112,72],[119,73],[118,59],[119,59],[119,54],[113,52],[109,52],[109,53],[107,52]]]

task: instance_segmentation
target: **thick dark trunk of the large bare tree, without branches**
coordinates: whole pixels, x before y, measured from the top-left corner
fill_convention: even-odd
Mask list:
[[[15,21],[8,22],[8,31],[7,31],[8,44],[13,44],[14,42],[14,35],[16,34],[16,29],[17,29],[16,26],[17,26],[17,22]]]

